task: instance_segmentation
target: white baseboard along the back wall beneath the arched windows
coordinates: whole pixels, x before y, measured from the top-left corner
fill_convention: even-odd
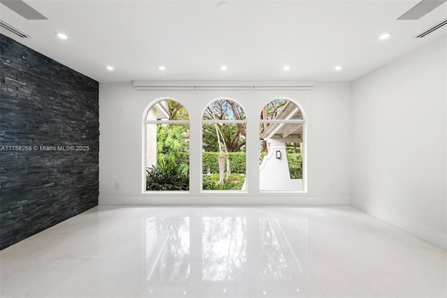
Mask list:
[[[246,197],[222,195],[210,197],[180,197],[176,195],[99,196],[100,205],[291,205],[291,206],[349,206],[349,197],[281,197],[271,195]]]

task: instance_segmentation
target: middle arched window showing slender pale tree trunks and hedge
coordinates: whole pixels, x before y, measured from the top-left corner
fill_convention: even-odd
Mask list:
[[[230,98],[208,105],[202,117],[203,190],[245,191],[247,120]]]

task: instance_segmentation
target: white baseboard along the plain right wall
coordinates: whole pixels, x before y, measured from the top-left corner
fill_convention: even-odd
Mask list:
[[[432,228],[428,228],[427,226],[421,225],[420,223],[416,223],[415,221],[411,221],[408,218],[403,218],[402,216],[393,214],[393,212],[375,207],[372,204],[368,204],[367,202],[363,202],[356,198],[351,198],[351,205],[353,207],[356,207],[357,209],[365,211],[367,214],[371,214],[376,218],[380,218],[387,223],[395,225],[397,228],[406,230],[406,232],[414,234],[420,239],[423,239],[441,248],[447,249],[446,234],[438,232],[437,230],[433,230]]]

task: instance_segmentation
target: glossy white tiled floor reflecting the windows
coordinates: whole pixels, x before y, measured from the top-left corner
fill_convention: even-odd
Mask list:
[[[0,253],[1,297],[447,297],[447,253],[352,207],[95,207]]]

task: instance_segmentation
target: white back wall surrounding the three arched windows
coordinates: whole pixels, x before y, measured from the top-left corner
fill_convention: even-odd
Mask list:
[[[305,93],[307,92],[307,94]],[[308,94],[312,92],[312,94]],[[305,94],[301,96],[301,94]],[[275,96],[290,97],[307,117],[307,193],[258,191],[258,140],[247,143],[247,193],[200,192],[200,119],[203,108],[219,96],[240,102],[247,130],[258,130],[263,105]],[[189,193],[142,193],[142,114],[156,98],[184,103],[191,119],[191,190]],[[136,90],[131,82],[100,84],[100,204],[350,204],[351,85],[320,83],[312,91]],[[249,139],[247,139],[250,141]],[[196,173],[196,174],[195,174]],[[119,183],[121,189],[116,189]],[[330,189],[330,184],[334,186]]]

